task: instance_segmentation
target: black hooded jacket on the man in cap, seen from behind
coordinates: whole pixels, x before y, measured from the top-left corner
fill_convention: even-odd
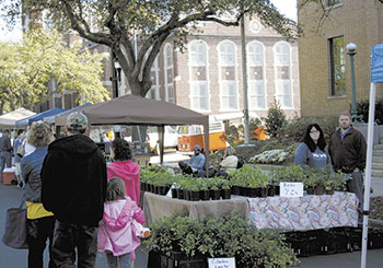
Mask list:
[[[42,170],[42,201],[59,221],[97,226],[103,218],[106,163],[86,136],[49,144]]]

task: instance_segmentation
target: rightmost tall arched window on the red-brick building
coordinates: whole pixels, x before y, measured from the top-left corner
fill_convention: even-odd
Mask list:
[[[292,108],[290,45],[278,42],[274,47],[276,98],[282,108]]]

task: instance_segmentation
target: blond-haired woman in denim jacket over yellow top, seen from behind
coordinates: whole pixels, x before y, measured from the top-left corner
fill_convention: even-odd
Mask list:
[[[44,250],[49,240],[49,256],[55,226],[55,217],[44,209],[42,203],[40,171],[48,144],[54,140],[50,127],[45,123],[33,123],[26,136],[26,142],[36,149],[21,160],[21,174],[25,183],[23,198],[26,202],[26,240],[28,243],[28,267],[44,267]],[[49,268],[56,267],[51,258]]]

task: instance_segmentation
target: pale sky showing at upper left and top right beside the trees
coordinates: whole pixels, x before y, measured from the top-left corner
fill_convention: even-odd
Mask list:
[[[271,0],[271,2],[277,7],[279,12],[297,21],[297,0]],[[0,40],[16,40],[20,38],[21,26],[15,26],[14,31],[9,32],[4,26],[4,22],[0,19]]]

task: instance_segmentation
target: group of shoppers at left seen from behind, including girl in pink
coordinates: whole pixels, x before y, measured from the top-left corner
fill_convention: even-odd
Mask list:
[[[47,243],[49,268],[95,267],[97,252],[105,253],[108,267],[130,267],[139,237],[148,235],[138,206],[140,168],[129,143],[111,142],[107,165],[86,131],[86,116],[72,113],[63,138],[55,139],[47,124],[33,123],[26,137],[18,132],[13,148],[10,131],[0,139],[1,174],[14,154],[24,184],[30,268],[44,267]]]

